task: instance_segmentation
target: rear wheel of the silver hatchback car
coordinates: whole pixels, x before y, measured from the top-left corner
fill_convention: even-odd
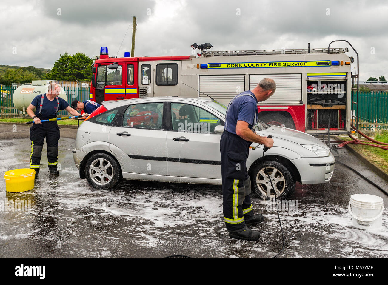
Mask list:
[[[111,189],[120,180],[117,162],[107,154],[94,154],[85,165],[86,179],[96,189]]]

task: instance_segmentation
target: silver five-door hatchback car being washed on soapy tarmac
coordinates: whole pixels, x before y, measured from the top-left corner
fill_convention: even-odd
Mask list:
[[[78,128],[73,158],[80,177],[95,188],[113,188],[121,178],[222,184],[220,138],[226,106],[209,98],[148,97],[106,101]],[[262,199],[286,198],[302,184],[331,179],[335,160],[329,148],[306,133],[264,124],[272,135],[265,152],[253,143],[246,162],[253,189]]]

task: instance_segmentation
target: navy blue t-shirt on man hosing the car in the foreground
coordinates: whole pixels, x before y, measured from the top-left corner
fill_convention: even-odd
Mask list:
[[[251,94],[253,97],[245,95],[236,98],[243,93]],[[248,90],[239,95],[230,101],[225,118],[225,129],[235,135],[237,121],[247,122],[249,124],[249,129],[251,129],[253,124],[256,124],[255,118],[257,118],[258,114],[255,94]]]

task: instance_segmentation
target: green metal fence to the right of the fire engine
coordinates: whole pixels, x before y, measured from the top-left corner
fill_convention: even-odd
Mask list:
[[[354,93],[354,100],[357,93]],[[388,123],[388,92],[359,92],[359,124],[376,123],[372,128],[387,129],[388,126],[378,125]],[[353,104],[353,110],[356,110],[356,104]],[[370,125],[364,125],[362,128],[369,130]]]

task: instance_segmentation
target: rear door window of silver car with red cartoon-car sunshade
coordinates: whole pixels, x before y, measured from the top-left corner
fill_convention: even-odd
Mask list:
[[[123,126],[163,128],[163,102],[129,105],[123,116]]]

